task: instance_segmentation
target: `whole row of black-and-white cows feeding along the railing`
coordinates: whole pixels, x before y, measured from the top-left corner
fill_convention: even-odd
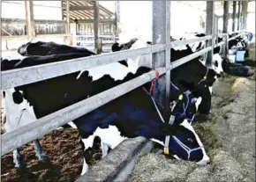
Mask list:
[[[237,34],[232,34],[230,37],[235,35]],[[192,33],[179,40],[191,39],[192,36],[196,38],[205,34]],[[230,41],[229,49],[244,48],[248,56],[247,45],[250,42],[248,37],[249,34],[246,34]],[[218,41],[222,41],[222,38],[219,37]],[[132,39],[125,44],[115,43],[112,51],[150,45],[150,41]],[[171,48],[170,62],[192,55],[204,46],[205,41],[200,41],[184,47]],[[18,52],[24,56],[23,59],[1,58],[2,71],[95,55],[87,48],[41,41],[28,42],[19,47]],[[221,47],[215,47],[211,65],[206,65],[203,56],[199,56],[171,70],[168,112],[164,112],[162,106],[151,97],[149,94],[151,83],[147,83],[63,126],[75,127],[79,130],[85,150],[81,174],[88,170],[87,150],[93,146],[95,136],[101,138],[102,157],[108,154],[109,148],[114,149],[125,138],[143,136],[160,143],[164,147],[165,155],[178,160],[195,161],[197,164],[209,163],[206,149],[193,129],[192,121],[197,112],[203,114],[211,112],[212,86],[218,77],[222,76],[222,64]],[[3,91],[6,114],[4,132],[18,129],[66,106],[123,84],[152,70],[151,65],[152,55],[140,55],[133,59],[5,90]],[[41,149],[38,140],[34,140],[34,149],[39,160],[46,160],[47,155]],[[13,151],[13,162],[15,167],[21,169],[26,166],[20,157],[19,149]]]

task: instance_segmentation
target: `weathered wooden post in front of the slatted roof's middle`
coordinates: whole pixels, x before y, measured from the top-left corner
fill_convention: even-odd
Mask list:
[[[100,25],[100,4],[99,1],[94,1],[94,49],[97,54],[101,54],[101,42],[99,39]]]

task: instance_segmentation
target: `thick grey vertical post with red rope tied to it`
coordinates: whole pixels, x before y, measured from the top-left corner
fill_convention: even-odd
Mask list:
[[[153,44],[166,44],[169,43],[169,18],[170,18],[170,2],[169,1],[153,1]],[[154,53],[152,56],[153,68],[169,67],[169,50]],[[166,59],[166,62],[164,61]],[[161,76],[154,84],[153,97],[155,101],[162,107],[166,107],[169,101],[165,99],[166,94],[166,81],[169,81],[169,73]],[[165,102],[166,100],[166,102]]]

